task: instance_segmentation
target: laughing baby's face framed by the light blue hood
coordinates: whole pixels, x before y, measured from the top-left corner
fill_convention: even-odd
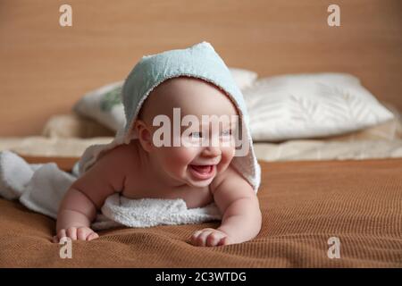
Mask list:
[[[180,108],[176,109],[176,115],[173,115],[173,108]],[[161,137],[161,125],[153,126],[157,115],[170,119],[170,146],[158,147],[155,142],[166,135]],[[199,124],[181,126],[183,117],[189,118],[186,115],[193,115],[191,118]],[[213,115],[215,117],[210,117]],[[231,119],[236,115],[229,97],[214,85],[187,77],[167,80],[155,88],[142,108],[141,119],[152,139],[148,154],[170,179],[193,187],[205,187],[218,173],[226,170],[235,153],[233,133],[237,124],[219,122],[219,118]],[[205,122],[205,118],[209,120]],[[175,124],[180,133],[174,132]],[[176,147],[173,146],[175,139],[176,143],[180,142]]]

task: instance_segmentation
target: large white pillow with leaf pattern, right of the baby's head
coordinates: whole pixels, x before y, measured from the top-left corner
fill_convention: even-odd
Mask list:
[[[360,80],[347,73],[267,77],[243,94],[255,140],[338,135],[393,118]]]

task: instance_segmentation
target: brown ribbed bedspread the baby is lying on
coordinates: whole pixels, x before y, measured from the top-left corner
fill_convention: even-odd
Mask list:
[[[74,241],[72,258],[50,242],[54,220],[0,199],[0,266],[402,267],[402,159],[262,163],[264,225],[255,240],[188,244],[218,223],[101,231]],[[340,258],[327,241],[338,237]]]

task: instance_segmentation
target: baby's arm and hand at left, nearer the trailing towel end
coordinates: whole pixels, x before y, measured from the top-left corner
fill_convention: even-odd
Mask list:
[[[93,240],[98,237],[89,226],[105,198],[121,191],[124,183],[127,152],[116,147],[101,156],[87,172],[67,190],[57,214],[54,242],[64,236],[71,240]]]

